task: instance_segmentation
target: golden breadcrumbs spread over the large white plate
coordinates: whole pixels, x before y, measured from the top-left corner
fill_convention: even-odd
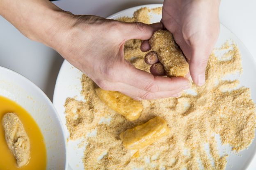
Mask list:
[[[142,8],[133,18],[119,20],[149,23],[150,11],[160,13],[161,8]],[[145,53],[140,51],[140,43],[141,40],[126,42],[125,59],[149,72],[150,65],[144,63]],[[224,54],[217,56],[216,51]],[[194,94],[183,92],[180,98],[142,101],[142,115],[132,122],[107,107],[96,95],[94,82],[83,75],[81,93],[86,102],[67,98],[65,114],[70,139],[84,141],[80,146],[85,148],[85,169],[197,170],[203,166],[207,170],[224,170],[228,155],[219,155],[215,134],[220,135],[222,144],[229,143],[233,150],[240,151],[250,145],[256,128],[255,104],[249,88],[238,87],[238,80],[223,80],[226,75],[235,73],[242,73],[240,52],[233,42],[225,43],[210,55],[205,85],[192,85]],[[167,121],[170,134],[139,153],[123,148],[119,134],[155,116]],[[94,130],[96,136],[86,137]],[[206,143],[211,158],[204,149]]]

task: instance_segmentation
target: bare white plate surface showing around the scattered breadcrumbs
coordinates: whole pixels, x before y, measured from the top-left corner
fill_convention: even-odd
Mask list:
[[[113,14],[108,18],[118,18],[122,16],[133,16],[133,12],[141,7],[161,7],[162,4],[150,4],[150,5],[142,5],[138,7],[133,7],[129,9],[125,9],[118,13]],[[159,22],[161,19],[160,15],[154,15],[152,18],[152,22]],[[242,66],[243,66],[243,74],[239,79],[241,85],[249,87],[251,89],[251,97],[256,101],[256,78],[253,78],[253,73],[256,73],[256,62],[254,58],[251,56],[246,47],[242,44],[242,42],[226,27],[220,25],[220,34],[217,40],[216,47],[220,47],[226,40],[233,40],[239,47],[240,52],[242,54]],[[82,99],[83,97],[80,95],[81,91],[81,82],[80,78],[82,76],[82,72],[78,69],[74,68],[70,65],[66,60],[62,64],[62,67],[59,71],[59,75],[55,85],[55,91],[53,96],[53,104],[55,105],[60,117],[61,121],[66,124],[65,115],[64,115],[64,103],[67,97],[75,97],[78,99]],[[67,128],[65,127],[66,134],[69,135]],[[73,170],[83,170],[82,157],[83,157],[83,149],[78,148],[77,144],[80,141],[69,141],[68,144],[68,162],[69,167]],[[218,141],[219,148],[225,148],[226,150],[230,150],[229,146],[222,146],[220,144],[220,140]],[[249,165],[251,159],[254,157],[254,153],[256,150],[256,141],[254,140],[251,143],[248,150],[244,150],[239,152],[238,154],[229,154],[227,158],[228,163],[226,166],[226,170],[244,170]],[[221,153],[223,154],[223,153]],[[242,157],[240,157],[242,155]],[[232,168],[231,168],[232,166]]]

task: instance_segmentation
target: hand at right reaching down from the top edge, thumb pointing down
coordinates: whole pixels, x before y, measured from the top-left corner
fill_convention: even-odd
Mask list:
[[[162,8],[164,26],[174,35],[190,65],[190,75],[197,85],[205,83],[208,57],[219,35],[220,0],[165,0]],[[147,41],[142,51],[148,51]]]

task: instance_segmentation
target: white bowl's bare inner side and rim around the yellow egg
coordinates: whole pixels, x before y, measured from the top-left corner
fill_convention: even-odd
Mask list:
[[[46,144],[46,169],[66,169],[67,152],[64,128],[46,94],[24,76],[0,67],[0,95],[21,105],[39,125]]]

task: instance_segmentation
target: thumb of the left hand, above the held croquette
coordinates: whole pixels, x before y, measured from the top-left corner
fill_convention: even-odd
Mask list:
[[[148,40],[153,33],[158,29],[162,29],[163,25],[160,22],[153,23],[151,25],[144,24],[142,22],[123,22],[123,37],[126,40],[140,39]]]

